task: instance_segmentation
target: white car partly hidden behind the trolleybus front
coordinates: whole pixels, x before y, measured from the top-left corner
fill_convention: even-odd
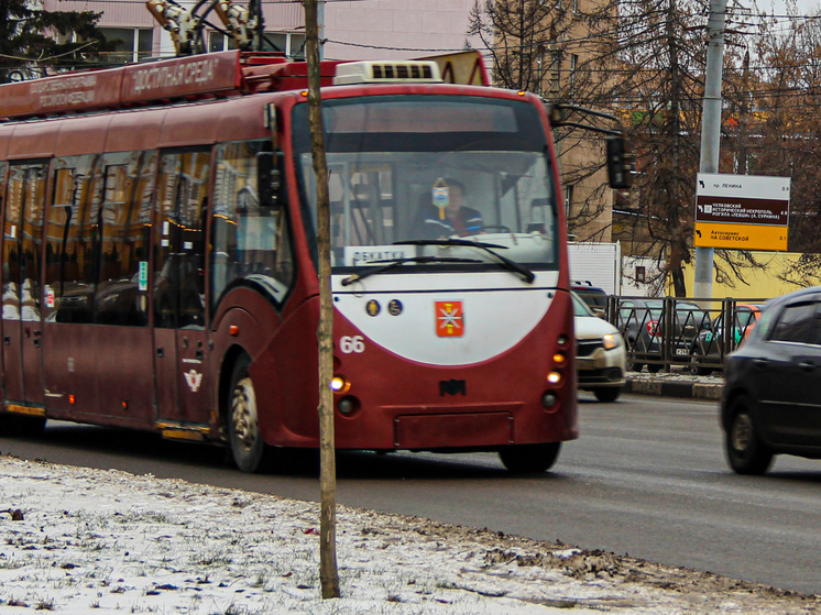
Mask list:
[[[595,316],[573,296],[576,371],[579,388],[591,391],[599,402],[615,402],[625,383],[627,349],[619,329]]]

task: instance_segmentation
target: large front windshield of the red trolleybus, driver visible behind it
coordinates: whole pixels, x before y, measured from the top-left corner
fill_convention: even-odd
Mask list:
[[[505,261],[558,267],[556,189],[532,103],[371,96],[325,100],[322,114],[337,273],[394,262],[401,266],[386,273],[497,270]],[[294,127],[315,220],[307,103],[295,108]]]

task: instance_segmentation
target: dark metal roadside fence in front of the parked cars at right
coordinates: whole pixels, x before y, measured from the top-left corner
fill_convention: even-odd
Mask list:
[[[627,344],[628,369],[646,365],[658,372],[679,365],[707,375],[722,371],[726,355],[744,343],[765,301],[612,295],[604,316]]]

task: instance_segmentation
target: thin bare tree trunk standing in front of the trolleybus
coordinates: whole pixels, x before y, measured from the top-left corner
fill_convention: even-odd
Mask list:
[[[330,293],[330,207],[319,92],[317,0],[305,0],[305,50],[308,62],[308,109],[314,173],[317,179],[317,248],[319,252],[319,582],[322,597],[339,597],[337,571],[337,466],[333,438],[333,304]]]

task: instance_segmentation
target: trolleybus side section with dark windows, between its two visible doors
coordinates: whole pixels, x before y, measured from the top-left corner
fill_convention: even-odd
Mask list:
[[[45,384],[53,416],[153,425],[149,251],[156,154],[61,156],[45,224]]]

